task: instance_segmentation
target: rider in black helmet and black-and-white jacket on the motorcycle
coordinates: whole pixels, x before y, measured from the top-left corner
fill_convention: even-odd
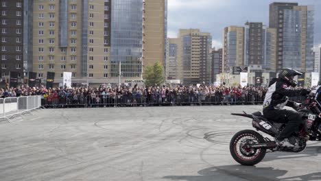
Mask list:
[[[277,123],[287,123],[283,131],[276,136],[276,144],[281,147],[294,147],[288,138],[293,132],[298,131],[298,127],[302,123],[300,113],[293,110],[285,110],[283,109],[284,106],[289,106],[296,110],[300,107],[300,104],[289,101],[289,97],[307,95],[310,92],[305,88],[290,89],[296,86],[296,81],[294,80],[296,75],[302,75],[302,73],[294,69],[281,70],[278,78],[274,78],[270,82],[263,102],[263,115],[265,118]]]

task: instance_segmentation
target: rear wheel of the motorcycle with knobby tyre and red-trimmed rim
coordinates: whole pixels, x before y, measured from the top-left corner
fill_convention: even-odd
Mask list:
[[[263,160],[265,148],[251,148],[250,145],[265,142],[263,136],[253,130],[237,132],[230,141],[230,154],[241,165],[256,165]]]

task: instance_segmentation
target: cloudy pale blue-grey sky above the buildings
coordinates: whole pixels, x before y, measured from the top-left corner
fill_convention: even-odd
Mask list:
[[[269,4],[294,2],[314,6],[314,45],[321,45],[321,0],[168,0],[167,36],[176,38],[178,29],[198,28],[213,36],[213,47],[222,47],[222,32],[229,25],[246,21],[269,25]]]

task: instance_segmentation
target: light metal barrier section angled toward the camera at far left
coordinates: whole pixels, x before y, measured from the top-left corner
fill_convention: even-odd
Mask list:
[[[40,95],[26,97],[5,97],[0,99],[0,118],[40,108]]]

